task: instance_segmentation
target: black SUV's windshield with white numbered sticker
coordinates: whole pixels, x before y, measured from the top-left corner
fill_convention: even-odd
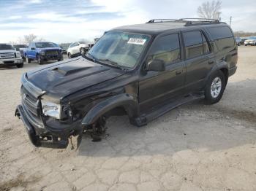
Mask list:
[[[149,39],[148,35],[110,31],[99,39],[88,55],[97,61],[107,61],[132,69]]]

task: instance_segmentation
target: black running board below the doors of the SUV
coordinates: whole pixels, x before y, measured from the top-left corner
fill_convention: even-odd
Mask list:
[[[140,117],[136,118],[136,125],[141,127],[143,125],[147,125],[148,122],[157,119],[157,117],[162,116],[163,114],[170,112],[170,110],[175,109],[178,106],[190,103],[192,101],[197,101],[203,99],[204,95],[200,94],[189,94],[184,98],[176,99],[175,101],[171,102],[164,102],[157,106],[154,106],[151,111],[147,112],[146,114],[142,114]]]

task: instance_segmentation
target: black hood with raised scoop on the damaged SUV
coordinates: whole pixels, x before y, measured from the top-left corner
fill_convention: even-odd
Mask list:
[[[124,71],[94,63],[86,58],[73,58],[30,71],[27,77],[46,94],[63,98],[79,90],[124,74]]]

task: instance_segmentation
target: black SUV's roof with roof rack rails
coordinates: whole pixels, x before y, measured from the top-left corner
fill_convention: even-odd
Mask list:
[[[226,23],[221,23],[219,20],[203,20],[203,21],[190,21],[190,20],[150,20],[148,23],[120,26],[113,28],[113,31],[128,31],[137,32],[142,34],[159,34],[170,30],[179,30],[181,28],[197,28],[200,26],[219,26]]]

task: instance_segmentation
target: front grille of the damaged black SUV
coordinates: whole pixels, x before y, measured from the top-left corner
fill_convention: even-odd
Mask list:
[[[24,112],[29,115],[32,125],[37,125],[37,127],[42,127],[42,121],[40,119],[40,107],[39,100],[35,98],[25,87],[21,87],[21,104],[23,106]]]

